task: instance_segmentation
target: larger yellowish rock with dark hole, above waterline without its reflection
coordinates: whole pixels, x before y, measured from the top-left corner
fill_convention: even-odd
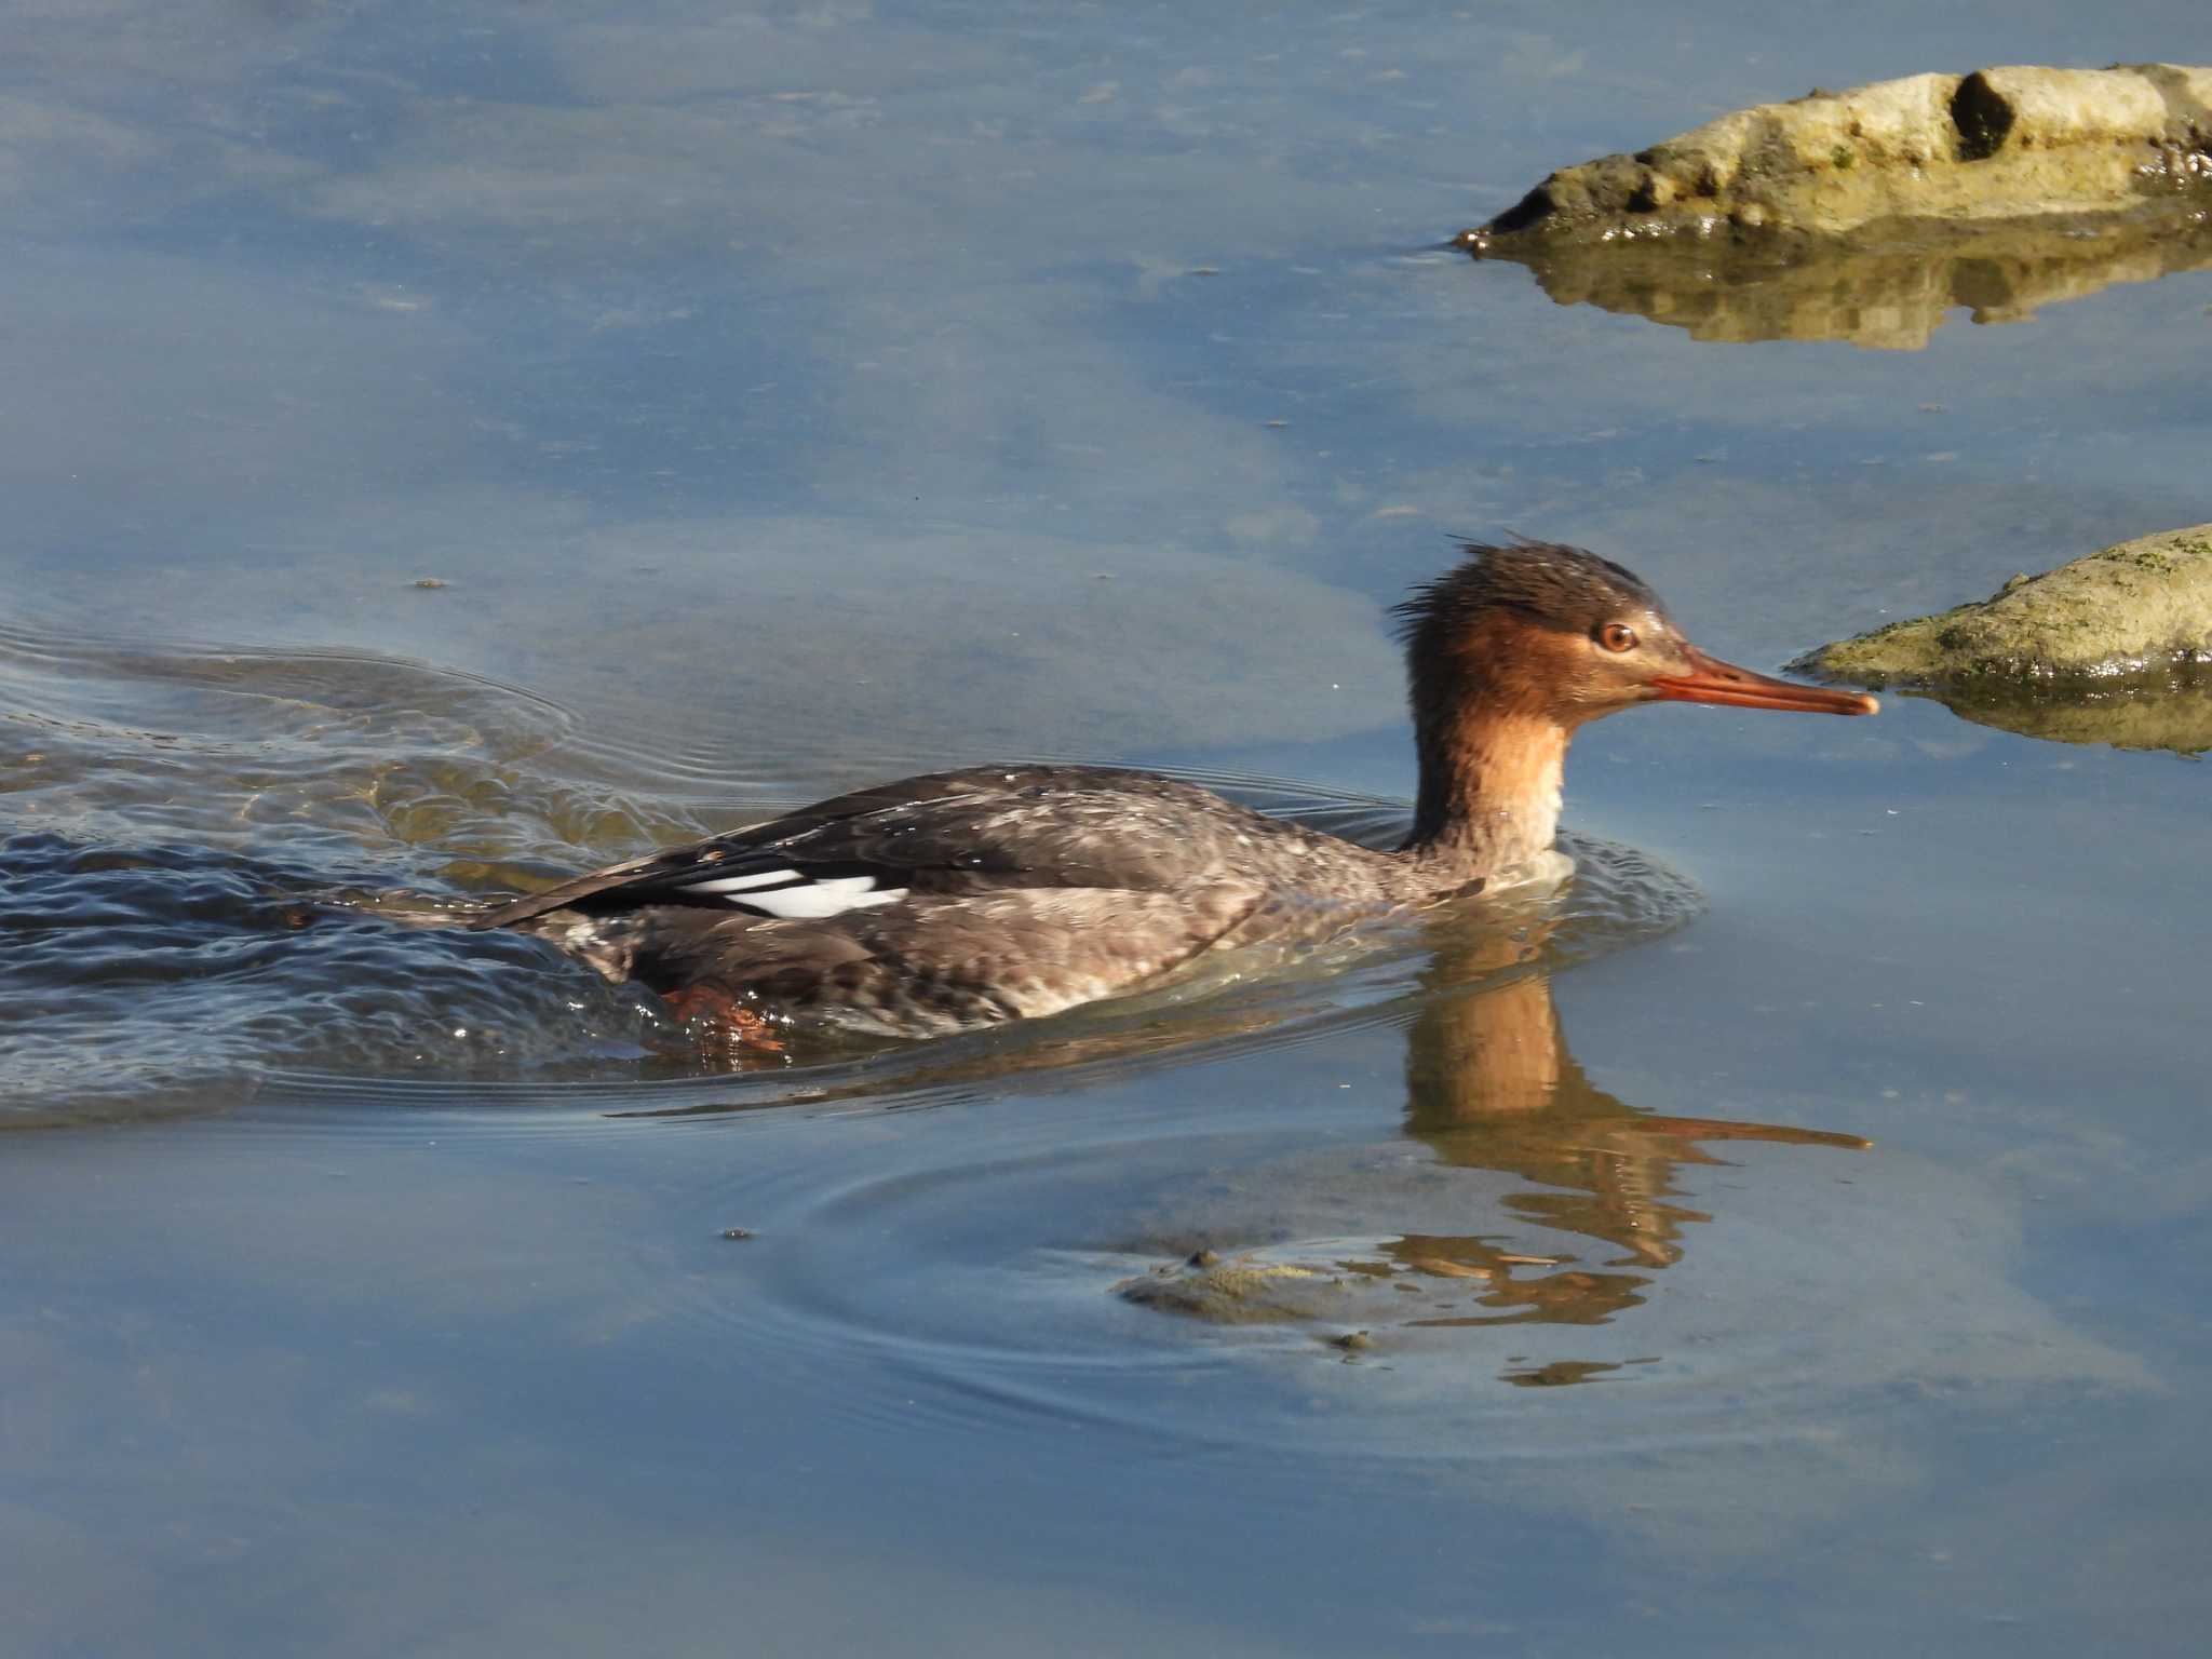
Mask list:
[[[2212,197],[2212,69],[1978,69],[1723,115],[1562,168],[1464,234],[1843,237],[1902,221],[2097,215]]]

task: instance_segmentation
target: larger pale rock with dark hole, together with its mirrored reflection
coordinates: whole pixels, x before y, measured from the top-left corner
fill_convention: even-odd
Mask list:
[[[2212,265],[2212,69],[1909,75],[1562,168],[1458,246],[1699,338],[1920,347]]]

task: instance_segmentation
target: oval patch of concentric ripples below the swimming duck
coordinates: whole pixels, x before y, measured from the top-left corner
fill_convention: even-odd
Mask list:
[[[2112,1376],[2004,1283],[2002,1248],[1931,1265],[1878,1225],[1876,1179],[1971,1239],[1986,1197],[1942,1170],[1876,1177],[1849,1137],[1728,1146],[1674,1168],[1674,1248],[1637,1254],[1546,1210],[1544,1172],[1429,1133],[1396,1086],[1398,1033],[1338,1035],[1066,1102],[717,1139],[677,1208],[701,1239],[748,1237],[639,1294],[706,1327],[699,1352],[823,1378],[825,1413],[1040,1447],[1086,1431],[1148,1458],[1604,1460],[1814,1436],[1823,1409],[1993,1354]],[[1619,1150],[1557,1139],[1577,1146]],[[1230,1265],[1272,1285],[1210,1312],[1130,1294]],[[1911,1294],[1869,1296],[1869,1276]],[[1929,1296],[1951,1358],[1916,1327]],[[1559,1385],[1577,1387],[1526,1409]]]

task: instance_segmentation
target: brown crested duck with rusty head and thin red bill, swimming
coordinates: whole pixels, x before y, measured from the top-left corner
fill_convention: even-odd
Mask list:
[[[732,1048],[821,1024],[936,1037],[1305,947],[1557,860],[1566,750],[1641,703],[1874,714],[1692,646],[1632,571],[1557,542],[1462,542],[1396,606],[1418,792],[1396,847],[1172,776],[978,765],[664,847],[467,925],[520,929]]]

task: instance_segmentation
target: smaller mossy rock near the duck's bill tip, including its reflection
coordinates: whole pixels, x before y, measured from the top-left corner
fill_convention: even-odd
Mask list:
[[[1938,697],[2064,743],[2212,748],[2212,524],[2141,535],[1980,604],[1840,639],[1798,672]]]

